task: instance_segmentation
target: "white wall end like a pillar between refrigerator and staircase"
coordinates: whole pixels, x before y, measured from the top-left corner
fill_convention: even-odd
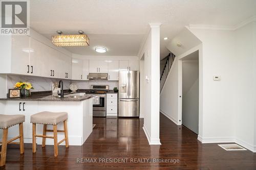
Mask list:
[[[148,78],[144,87],[143,130],[150,144],[161,144],[159,139],[159,89],[160,89],[160,24],[150,24],[150,31],[139,52],[144,56],[144,76]]]

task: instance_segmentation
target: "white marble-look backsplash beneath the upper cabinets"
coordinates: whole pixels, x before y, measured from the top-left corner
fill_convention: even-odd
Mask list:
[[[25,81],[32,83],[35,89],[31,91],[49,91],[52,90],[51,83],[58,82],[59,79],[51,79],[44,77],[32,77],[32,76],[17,76],[17,75],[8,75],[7,76],[7,87],[8,89],[13,88],[14,84],[19,81]],[[91,85],[109,85],[112,90],[114,87],[118,87],[118,81],[107,81],[107,80],[90,80],[90,81],[71,81],[71,80],[62,80],[64,89],[69,89],[71,83],[77,83],[79,89],[90,89]]]

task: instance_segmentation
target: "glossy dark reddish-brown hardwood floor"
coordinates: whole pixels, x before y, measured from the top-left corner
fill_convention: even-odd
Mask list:
[[[54,157],[53,146],[32,154],[32,145],[25,144],[25,154],[19,154],[18,145],[10,144],[6,166],[0,169],[256,169],[256,154],[250,151],[225,151],[215,144],[201,144],[197,135],[160,116],[162,145],[148,145],[142,130],[143,119],[94,118],[93,133],[81,147],[59,146]],[[50,140],[50,139],[48,139]],[[79,161],[91,161],[79,163]],[[92,158],[92,159],[91,159]],[[107,158],[127,158],[124,163],[99,162]],[[143,158],[177,160],[173,163],[138,162]],[[97,162],[93,162],[96,159]],[[110,160],[110,159],[109,159]],[[120,161],[120,160],[119,160]]]

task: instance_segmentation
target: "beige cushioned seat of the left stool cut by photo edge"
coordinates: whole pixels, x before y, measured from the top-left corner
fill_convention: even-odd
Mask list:
[[[25,122],[25,115],[23,114],[0,114],[0,129],[7,129],[11,126]]]

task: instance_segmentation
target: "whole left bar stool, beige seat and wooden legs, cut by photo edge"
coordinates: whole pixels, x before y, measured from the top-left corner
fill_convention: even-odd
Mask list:
[[[2,151],[0,158],[0,166],[4,166],[6,162],[6,150],[7,144],[12,141],[19,139],[19,151],[20,154],[24,153],[24,137],[23,137],[23,123],[25,122],[25,115],[22,114],[14,114],[14,115],[6,115],[0,114],[0,129],[3,129],[3,139],[2,139]],[[14,137],[10,140],[8,139],[8,128],[19,125],[19,136]]]

